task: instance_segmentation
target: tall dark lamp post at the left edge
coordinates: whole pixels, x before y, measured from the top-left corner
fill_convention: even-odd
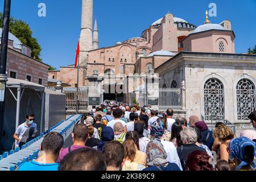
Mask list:
[[[5,0],[3,7],[3,28],[1,39],[1,54],[0,54],[0,152],[2,153],[2,138],[3,138],[3,122],[5,114],[5,89],[6,89],[6,62],[9,37],[11,0]]]

